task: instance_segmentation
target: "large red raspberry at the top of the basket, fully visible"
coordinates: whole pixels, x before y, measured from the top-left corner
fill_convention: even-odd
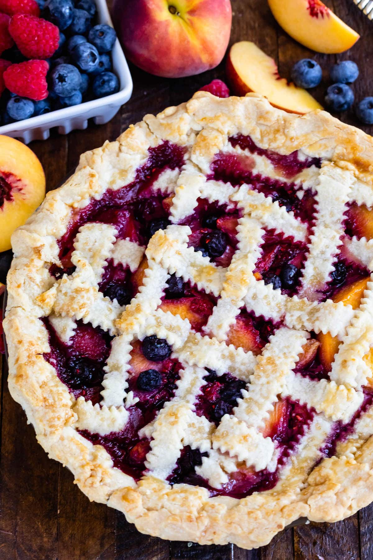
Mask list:
[[[9,32],[24,57],[50,58],[58,49],[58,27],[40,17],[18,13],[11,19]]]

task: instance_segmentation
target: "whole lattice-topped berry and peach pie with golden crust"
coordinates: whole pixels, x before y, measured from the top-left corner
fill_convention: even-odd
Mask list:
[[[373,500],[372,161],[327,113],[201,91],[15,232],[10,390],[90,500],[243,548]]]

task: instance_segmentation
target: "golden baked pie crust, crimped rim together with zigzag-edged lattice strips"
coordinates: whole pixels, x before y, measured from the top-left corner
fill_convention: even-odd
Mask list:
[[[248,137],[254,150],[240,141]],[[182,147],[183,158],[182,165],[166,165],[152,182],[153,191],[169,199],[167,229],[155,231],[145,247],[118,235],[118,227],[106,223],[110,220],[84,222],[89,204],[105,193],[114,196],[124,185],[133,188],[138,170],[164,142]],[[212,176],[217,154],[225,158],[223,167],[240,162],[246,179],[261,176],[274,190],[278,181],[291,184],[300,201],[305,192],[313,193],[313,217],[307,222],[287,211],[249,179],[232,183]],[[278,161],[295,167],[284,171]],[[373,283],[368,279],[357,309],[327,297],[342,251],[367,274],[373,271],[373,240],[350,235],[344,227],[351,204],[373,206],[372,161],[372,138],[323,111],[300,116],[255,94],[219,99],[197,92],[187,103],[145,116],[117,141],[84,153],[74,175],[48,193],[15,232],[4,319],[10,391],[39,443],[68,466],[90,500],[124,512],[143,533],[248,549],[267,544],[299,517],[337,521],[373,500]],[[188,246],[188,217],[199,200],[239,212],[237,243],[224,266]],[[71,240],[72,268],[65,270],[59,240],[68,239],[71,224],[79,220]],[[266,231],[305,247],[296,293],[274,289],[254,272]],[[128,305],[100,291],[108,260],[136,274],[144,254],[140,288]],[[53,274],[53,267],[63,273]],[[193,329],[173,308],[160,309],[172,274],[212,298],[201,328]],[[273,327],[259,353],[227,342],[241,312]],[[51,332],[68,348],[77,324],[111,341],[95,404],[84,393],[76,398],[60,380],[51,349]],[[307,341],[320,333],[340,341],[331,371],[319,377],[297,372]],[[179,370],[171,396],[136,436],[149,442],[136,478],[114,466],[114,455],[87,434],[103,441],[131,421],[139,402],[130,390],[131,351],[137,340],[154,335],[172,347],[169,360],[172,367],[178,362]],[[209,383],[206,376],[219,385],[227,372],[245,389],[214,422],[203,407],[196,412],[196,402]],[[293,412],[306,411],[303,418],[296,416],[304,426],[291,445],[287,442],[285,454],[281,438],[266,435],[265,428],[278,402],[298,403]],[[173,481],[186,446],[199,450],[195,474],[205,484]],[[237,480],[237,472],[244,480],[267,474],[260,491],[234,497],[228,487],[235,488],[229,481]]]

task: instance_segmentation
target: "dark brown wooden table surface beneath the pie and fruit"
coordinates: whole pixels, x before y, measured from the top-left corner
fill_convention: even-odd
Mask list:
[[[284,0],[284,4],[286,0]],[[371,68],[373,23],[352,0],[334,0],[328,6],[361,34],[361,39],[340,59],[352,58],[360,67],[353,86],[356,99],[373,95]],[[334,55],[315,55],[278,27],[266,0],[232,0],[231,43],[255,41],[278,62],[289,77],[292,64],[304,57],[316,58],[327,70]],[[101,127],[68,136],[56,133],[44,142],[30,144],[44,166],[48,189],[53,189],[77,165],[79,155],[113,140],[145,113],[157,113],[168,105],[186,101],[199,87],[219,77],[224,62],[211,72],[180,80],[149,76],[131,66],[134,93],[112,121]],[[326,84],[315,96],[322,102]],[[343,120],[356,124],[353,113]],[[373,127],[372,127],[373,128]],[[369,132],[369,129],[367,129]],[[34,429],[7,388],[3,363],[1,394],[0,560],[373,560],[373,505],[336,524],[298,526],[279,534],[261,549],[247,551],[232,545],[202,547],[167,542],[141,535],[124,515],[88,498],[73,484],[72,474],[48,459],[37,444]]]

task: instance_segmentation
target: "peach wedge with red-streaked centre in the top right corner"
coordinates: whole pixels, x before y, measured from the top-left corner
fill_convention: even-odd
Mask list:
[[[360,37],[320,0],[268,0],[268,4],[282,29],[318,53],[343,53]]]

